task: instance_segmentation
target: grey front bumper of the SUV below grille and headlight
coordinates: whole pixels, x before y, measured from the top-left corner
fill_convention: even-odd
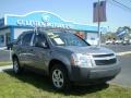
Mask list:
[[[107,82],[114,78],[121,71],[120,65],[105,65],[96,68],[71,68],[71,73],[69,75],[71,82],[92,84]]]

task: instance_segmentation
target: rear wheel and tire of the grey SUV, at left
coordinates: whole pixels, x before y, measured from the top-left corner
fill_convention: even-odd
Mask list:
[[[14,58],[13,59],[13,71],[15,74],[20,74],[22,72],[22,68],[20,65],[19,59]]]

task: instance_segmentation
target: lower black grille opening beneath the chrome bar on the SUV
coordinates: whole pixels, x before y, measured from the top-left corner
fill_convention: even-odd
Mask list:
[[[96,65],[107,65],[107,64],[114,64],[117,62],[117,59],[109,59],[109,60],[95,60]]]

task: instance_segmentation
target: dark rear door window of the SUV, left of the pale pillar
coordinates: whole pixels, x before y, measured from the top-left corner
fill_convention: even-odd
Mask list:
[[[31,45],[31,39],[32,39],[33,34],[25,34],[22,39],[22,45],[23,46],[29,46]]]

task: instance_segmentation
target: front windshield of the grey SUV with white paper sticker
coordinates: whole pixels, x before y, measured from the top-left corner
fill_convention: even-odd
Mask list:
[[[47,35],[56,46],[90,46],[90,44],[71,33],[48,33]]]

